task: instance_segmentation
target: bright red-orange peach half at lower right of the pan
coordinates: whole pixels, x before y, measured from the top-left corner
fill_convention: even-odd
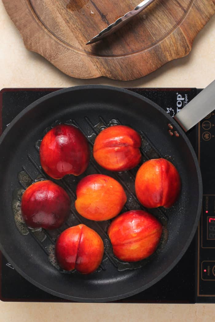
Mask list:
[[[108,229],[114,255],[128,262],[149,257],[158,247],[162,229],[161,223],[150,213],[142,210],[122,213]]]

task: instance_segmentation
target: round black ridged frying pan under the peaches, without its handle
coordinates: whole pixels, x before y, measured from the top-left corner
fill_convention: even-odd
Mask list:
[[[44,232],[45,240],[34,232],[22,235],[14,221],[13,194],[30,181],[44,177],[38,146],[44,131],[56,122],[79,127],[93,146],[96,134],[113,124],[128,125],[142,136],[142,162],[165,157],[178,169],[182,192],[171,209],[150,212],[165,226],[162,243],[149,260],[121,263],[114,258],[106,235],[108,223],[87,221],[74,211],[75,186],[83,177],[65,177],[58,183],[70,193],[70,222],[59,231]],[[171,136],[168,123],[179,137]],[[79,86],[44,96],[25,108],[0,137],[0,248],[14,268],[37,287],[58,297],[81,302],[107,302],[126,298],[147,289],[165,276],[181,259],[196,231],[202,202],[200,168],[195,152],[181,127],[149,99],[128,90],[109,86]],[[128,202],[123,211],[141,209],[134,194],[138,168],[111,173],[91,158],[84,175],[105,173],[125,188]],[[28,178],[24,180],[24,178]],[[30,178],[30,179],[29,179]],[[57,235],[70,224],[82,221],[103,238],[106,255],[100,269],[90,275],[66,274],[50,262],[50,247]],[[167,238],[168,234],[168,238]]]

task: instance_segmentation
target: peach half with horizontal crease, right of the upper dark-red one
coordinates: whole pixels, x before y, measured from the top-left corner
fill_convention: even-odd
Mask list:
[[[141,161],[141,137],[124,125],[105,128],[96,137],[93,156],[96,162],[110,171],[126,171]]]

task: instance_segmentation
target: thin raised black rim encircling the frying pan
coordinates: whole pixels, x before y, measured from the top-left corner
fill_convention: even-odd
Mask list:
[[[4,250],[4,246],[0,243],[0,250],[3,253],[3,255],[5,256],[5,258],[13,265],[13,267],[15,268],[15,270],[21,275],[23,276],[25,279],[27,279],[30,283],[32,283],[33,285],[35,285],[36,287],[44,290],[45,292],[48,292],[54,296],[60,297],[60,298],[65,298],[67,300],[71,300],[71,301],[76,301],[76,302],[111,302],[111,301],[116,301],[116,300],[120,300],[122,298],[127,298],[129,296],[135,295],[139,292],[144,291],[145,289],[148,289],[149,287],[151,287],[152,285],[154,285],[156,282],[158,282],[160,279],[162,279],[166,274],[168,274],[173,267],[179,262],[179,260],[181,259],[181,257],[184,255],[184,253],[187,251],[193,237],[194,234],[197,230],[198,227],[198,223],[200,220],[200,214],[201,214],[201,207],[202,207],[202,179],[201,179],[201,172],[200,172],[200,167],[199,167],[199,162],[196,156],[196,153],[189,141],[189,139],[187,138],[186,134],[184,133],[184,131],[182,130],[182,128],[178,125],[178,123],[171,117],[169,116],[163,109],[161,109],[160,106],[158,106],[157,104],[155,104],[154,102],[152,102],[150,99],[147,99],[145,97],[143,97],[140,94],[137,94],[135,92],[132,92],[130,90],[125,90],[123,88],[118,88],[118,87],[113,87],[113,86],[107,86],[107,85],[81,85],[81,86],[74,86],[74,87],[69,87],[69,88],[64,88],[61,90],[57,90],[53,93],[47,94],[44,97],[34,101],[33,103],[31,103],[29,106],[27,106],[25,109],[23,109],[23,111],[21,111],[10,123],[10,125],[4,130],[4,132],[2,133],[1,137],[0,137],[0,145],[3,142],[4,138],[8,135],[8,133],[10,132],[10,129],[16,124],[16,122],[23,117],[23,115],[25,113],[27,113],[29,110],[35,108],[38,104],[40,104],[41,102],[45,101],[46,99],[49,99],[50,97],[54,97],[66,92],[72,92],[73,90],[84,90],[84,89],[88,89],[88,90],[115,90],[115,91],[119,91],[119,92],[124,92],[127,93],[129,95],[132,95],[136,98],[141,99],[142,101],[145,101],[147,103],[149,103],[150,105],[152,105],[155,109],[158,109],[162,114],[164,114],[169,121],[174,125],[174,127],[179,131],[180,135],[183,137],[183,139],[186,141],[188,147],[190,148],[195,166],[196,166],[196,170],[197,170],[197,175],[198,175],[198,184],[199,184],[199,203],[198,203],[198,211],[197,211],[197,216],[196,216],[196,220],[195,223],[193,225],[193,229],[191,231],[191,234],[189,236],[189,239],[187,240],[187,242],[184,245],[183,250],[180,252],[180,254],[177,256],[177,258],[171,263],[171,265],[164,270],[157,278],[153,279],[151,282],[149,282],[148,284],[135,289],[133,291],[129,291],[128,293],[124,293],[124,294],[120,294],[117,296],[113,296],[113,297],[108,297],[108,298],[77,298],[77,297],[73,297],[73,296],[66,296],[62,293],[56,292],[52,289],[48,289],[47,287],[44,287],[43,285],[41,285],[40,283],[34,281],[34,279],[32,279],[31,277],[29,277],[23,270],[19,269],[19,267],[13,262],[13,260],[10,258],[10,256],[5,252]]]

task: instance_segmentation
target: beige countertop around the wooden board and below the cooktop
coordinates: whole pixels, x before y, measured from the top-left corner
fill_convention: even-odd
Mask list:
[[[120,87],[198,87],[215,79],[215,16],[196,37],[191,53],[135,81],[79,80],[64,75],[29,52],[0,1],[0,88],[69,87],[108,84]],[[177,291],[177,290],[176,290]],[[215,320],[214,304],[84,304],[0,302],[1,321],[189,321]]]

